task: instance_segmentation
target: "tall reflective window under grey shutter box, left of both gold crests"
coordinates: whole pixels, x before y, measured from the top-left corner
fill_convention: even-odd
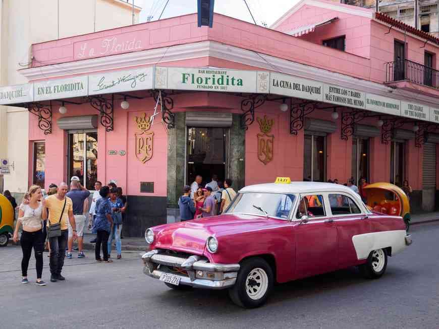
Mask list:
[[[94,189],[97,180],[97,131],[69,131],[68,181],[77,176],[88,190]]]

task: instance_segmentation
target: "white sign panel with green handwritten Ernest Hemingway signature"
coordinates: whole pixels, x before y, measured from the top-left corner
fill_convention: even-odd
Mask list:
[[[88,77],[88,94],[109,94],[153,88],[153,67],[108,72]]]

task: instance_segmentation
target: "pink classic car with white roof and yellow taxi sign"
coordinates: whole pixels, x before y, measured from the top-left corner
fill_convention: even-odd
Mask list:
[[[244,187],[222,215],[147,229],[144,273],[173,289],[229,289],[251,308],[275,283],[351,266],[379,278],[412,242],[401,217],[369,211],[349,187],[277,181]]]

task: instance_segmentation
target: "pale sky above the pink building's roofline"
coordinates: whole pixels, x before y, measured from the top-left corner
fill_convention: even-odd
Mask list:
[[[258,25],[270,26],[299,0],[247,0],[247,4]],[[130,1],[131,2],[131,1]],[[140,22],[146,22],[148,16],[155,21],[160,16],[167,0],[135,0],[142,7]],[[169,0],[161,19],[197,12],[197,0]],[[244,0],[215,0],[214,12],[253,23]],[[213,17],[215,24],[215,17]]]

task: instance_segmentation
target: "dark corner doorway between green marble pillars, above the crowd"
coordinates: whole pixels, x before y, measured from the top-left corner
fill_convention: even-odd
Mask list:
[[[188,127],[186,183],[190,185],[200,175],[204,185],[213,174],[224,181],[228,174],[228,152],[229,128]]]

